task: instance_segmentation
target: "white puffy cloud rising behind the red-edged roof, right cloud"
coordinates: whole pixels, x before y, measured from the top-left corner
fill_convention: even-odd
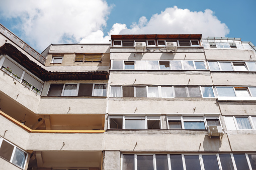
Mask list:
[[[209,9],[192,12],[174,6],[154,14],[149,21],[141,17],[138,24],[133,23],[131,29],[121,30],[119,34],[202,34],[203,37],[224,37],[229,34],[229,29]]]

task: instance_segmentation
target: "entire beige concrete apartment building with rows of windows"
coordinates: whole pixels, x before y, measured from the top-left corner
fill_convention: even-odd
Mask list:
[[[256,47],[112,35],[41,54],[1,25],[3,169],[256,169]]]

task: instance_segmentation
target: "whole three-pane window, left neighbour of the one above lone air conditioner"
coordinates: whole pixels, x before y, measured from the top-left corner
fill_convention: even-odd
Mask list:
[[[160,116],[109,116],[109,129],[161,129]]]

